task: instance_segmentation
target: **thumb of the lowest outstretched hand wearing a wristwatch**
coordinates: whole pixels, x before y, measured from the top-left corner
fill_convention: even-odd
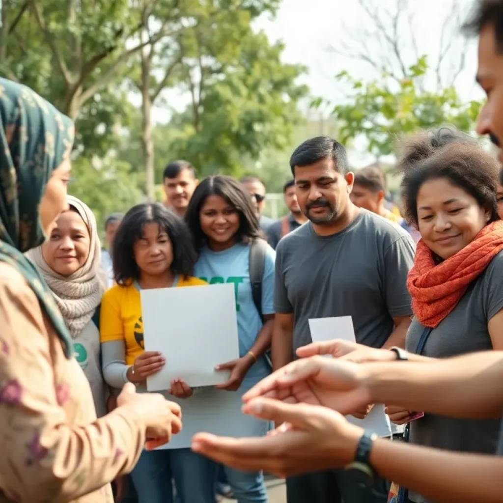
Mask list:
[[[310,405],[285,403],[272,398],[254,398],[244,404],[243,412],[276,424],[290,423],[294,428],[305,430],[309,418]]]

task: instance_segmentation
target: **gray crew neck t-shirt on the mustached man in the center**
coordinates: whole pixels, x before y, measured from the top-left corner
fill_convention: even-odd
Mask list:
[[[366,210],[337,234],[319,236],[307,222],[286,235],[276,254],[275,310],[294,314],[294,350],[311,343],[309,318],[330,316],[352,316],[356,340],[380,348],[393,317],[412,313],[414,253],[404,229]]]

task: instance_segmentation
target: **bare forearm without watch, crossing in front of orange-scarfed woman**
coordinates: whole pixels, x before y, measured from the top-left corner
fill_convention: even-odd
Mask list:
[[[451,417],[503,415],[503,351],[428,363],[363,364],[372,403],[392,403]]]

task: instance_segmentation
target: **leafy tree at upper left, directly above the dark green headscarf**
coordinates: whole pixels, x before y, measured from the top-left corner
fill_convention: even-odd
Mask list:
[[[169,0],[12,0],[2,9],[0,73],[20,80],[78,120],[76,144],[104,154],[127,126],[127,61],[170,35],[160,23],[146,40],[147,14]],[[29,42],[28,42],[29,41]]]

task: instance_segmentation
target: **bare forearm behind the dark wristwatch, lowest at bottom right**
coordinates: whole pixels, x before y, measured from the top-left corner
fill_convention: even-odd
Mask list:
[[[377,439],[370,462],[382,478],[439,503],[499,503],[503,458]]]

